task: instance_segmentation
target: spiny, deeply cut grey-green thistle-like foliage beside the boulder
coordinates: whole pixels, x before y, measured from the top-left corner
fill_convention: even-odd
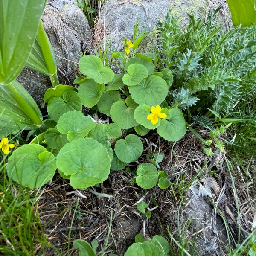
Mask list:
[[[207,108],[218,113],[233,111],[237,101],[256,89],[256,27],[236,27],[229,32],[217,26],[216,12],[189,25],[177,25],[172,11],[158,24],[160,67],[174,73],[168,102],[192,114]],[[195,112],[195,113],[193,113]]]

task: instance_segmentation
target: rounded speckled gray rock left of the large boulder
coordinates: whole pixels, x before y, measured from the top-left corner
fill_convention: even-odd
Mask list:
[[[76,31],[82,44],[84,44],[84,48],[88,48],[90,46],[89,41],[93,38],[93,32],[81,9],[76,4],[70,3],[64,6],[60,16],[71,29]]]

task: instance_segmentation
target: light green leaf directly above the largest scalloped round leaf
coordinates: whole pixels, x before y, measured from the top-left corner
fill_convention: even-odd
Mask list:
[[[56,128],[60,133],[67,134],[67,139],[71,141],[83,138],[95,125],[89,116],[74,110],[64,113],[58,120]]]

